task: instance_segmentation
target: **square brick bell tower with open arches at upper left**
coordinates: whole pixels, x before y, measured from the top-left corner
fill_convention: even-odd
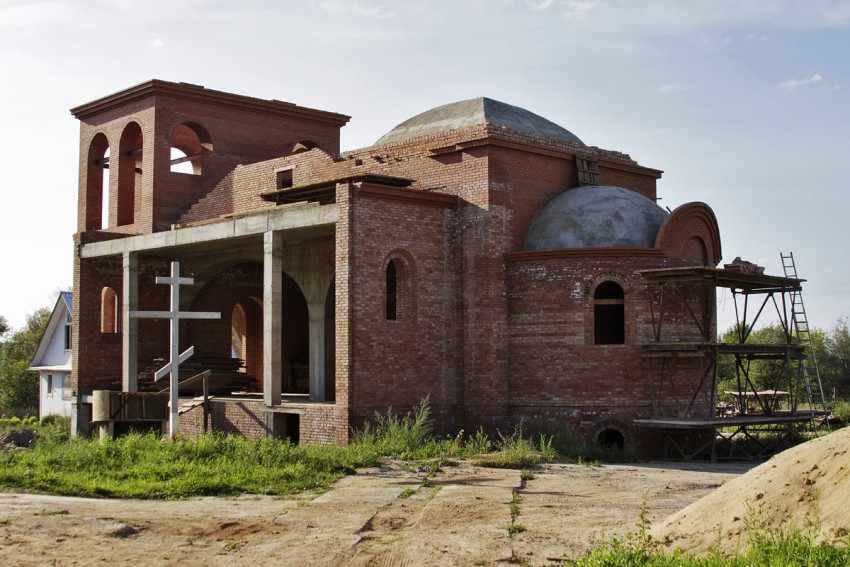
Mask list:
[[[301,146],[339,153],[349,119],[159,80],[71,112],[80,120],[77,230],[118,235],[169,230],[238,165]]]

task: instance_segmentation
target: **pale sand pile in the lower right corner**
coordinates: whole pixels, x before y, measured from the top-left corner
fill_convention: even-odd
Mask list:
[[[673,514],[651,530],[669,547],[724,554],[746,549],[748,527],[811,533],[817,542],[850,531],[850,428],[788,449]]]

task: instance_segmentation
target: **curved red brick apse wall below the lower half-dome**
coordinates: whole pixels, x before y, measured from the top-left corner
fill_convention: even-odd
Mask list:
[[[632,419],[676,416],[698,389],[699,360],[679,367],[672,382],[654,389],[643,345],[653,341],[657,289],[637,273],[683,265],[656,253],[587,250],[571,253],[514,255],[507,264],[510,306],[510,408],[514,419],[549,422],[593,437],[606,420],[617,420],[622,433],[644,446],[655,437],[631,426]],[[593,292],[603,281],[624,290],[625,343],[594,344]],[[698,300],[697,288],[677,299]],[[682,302],[670,301],[664,319],[666,341],[703,340]],[[655,302],[651,305],[651,302]],[[656,361],[653,361],[657,365]],[[654,367],[659,378],[660,367]],[[708,417],[711,399],[701,397],[692,417]]]

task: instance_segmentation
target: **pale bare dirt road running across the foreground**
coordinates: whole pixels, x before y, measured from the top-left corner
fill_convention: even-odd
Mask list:
[[[466,463],[433,478],[390,464],[318,497],[0,494],[0,564],[552,564],[634,531],[644,503],[659,521],[752,466],[547,465],[524,480]]]

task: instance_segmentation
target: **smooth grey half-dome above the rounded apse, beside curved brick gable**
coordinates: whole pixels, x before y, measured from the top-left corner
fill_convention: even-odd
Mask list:
[[[523,248],[650,248],[667,216],[651,199],[621,187],[567,189],[534,214]]]

